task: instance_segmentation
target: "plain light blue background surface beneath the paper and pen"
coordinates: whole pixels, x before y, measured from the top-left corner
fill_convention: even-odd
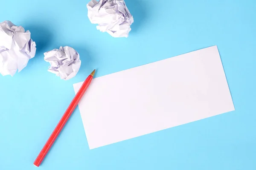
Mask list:
[[[218,45],[236,111],[89,150],[79,110],[41,170],[255,170],[256,1],[126,0],[128,38],[96,30],[88,0],[3,0],[0,22],[29,29],[35,58],[0,76],[0,170],[37,170],[33,161],[73,98],[73,83]],[[47,72],[43,53],[69,45],[77,76]]]

